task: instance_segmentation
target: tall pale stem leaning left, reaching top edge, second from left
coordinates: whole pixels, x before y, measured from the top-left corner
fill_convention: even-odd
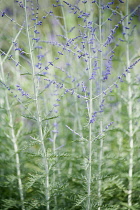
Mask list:
[[[48,159],[47,159],[47,151],[45,148],[44,143],[44,135],[43,135],[43,127],[42,127],[42,118],[41,118],[41,110],[40,104],[38,101],[38,81],[35,75],[35,63],[34,63],[34,54],[32,51],[32,43],[29,33],[29,22],[28,22],[28,14],[27,14],[27,1],[25,0],[25,16],[26,16],[26,32],[27,32],[27,39],[28,39],[28,46],[29,46],[29,55],[31,60],[31,68],[32,68],[32,79],[33,79],[33,86],[34,86],[34,101],[35,101],[35,108],[36,108],[36,117],[37,117],[37,125],[39,131],[39,140],[41,142],[41,150],[42,150],[42,158],[43,158],[43,165],[45,169],[45,198],[46,198],[46,209],[50,209],[49,205],[49,166],[48,166]]]

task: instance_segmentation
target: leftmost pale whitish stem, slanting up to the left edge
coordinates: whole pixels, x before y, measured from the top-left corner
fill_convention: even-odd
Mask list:
[[[2,81],[5,83],[5,75],[4,75],[4,69],[3,69],[3,65],[2,65],[1,56],[0,56],[0,63],[1,63]],[[22,184],[22,180],[21,180],[20,158],[19,158],[19,154],[18,154],[17,136],[16,136],[15,130],[14,130],[13,116],[12,116],[12,111],[10,108],[7,90],[5,90],[5,101],[6,101],[6,109],[7,109],[8,116],[9,116],[9,127],[10,127],[10,131],[11,131],[11,141],[13,143],[14,152],[15,152],[15,156],[16,156],[16,158],[15,158],[16,159],[16,170],[17,170],[17,179],[18,179],[18,186],[19,186],[19,195],[20,195],[20,200],[21,200],[21,208],[22,208],[22,210],[25,210],[23,184]]]

